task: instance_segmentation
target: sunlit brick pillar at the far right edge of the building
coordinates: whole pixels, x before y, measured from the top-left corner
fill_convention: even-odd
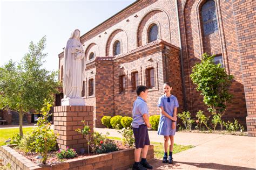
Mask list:
[[[256,136],[256,32],[255,1],[233,2],[235,28],[239,42],[242,81],[244,83],[247,130],[249,136]]]

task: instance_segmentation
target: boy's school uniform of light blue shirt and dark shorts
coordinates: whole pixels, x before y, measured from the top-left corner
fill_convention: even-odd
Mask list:
[[[136,148],[143,148],[145,145],[150,145],[147,125],[143,119],[144,114],[149,116],[149,108],[143,98],[138,96],[133,103],[132,109],[132,130]]]

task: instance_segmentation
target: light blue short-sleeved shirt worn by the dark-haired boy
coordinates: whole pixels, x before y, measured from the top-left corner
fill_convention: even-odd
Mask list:
[[[149,108],[147,107],[147,103],[143,100],[142,97],[137,97],[137,99],[133,103],[132,109],[132,127],[139,128],[139,125],[145,125],[143,115],[149,115]]]

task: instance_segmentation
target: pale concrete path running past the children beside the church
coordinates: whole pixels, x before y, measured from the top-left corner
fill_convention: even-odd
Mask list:
[[[111,137],[121,137],[113,129],[96,128],[95,131]],[[156,131],[149,131],[150,140],[163,143]],[[256,138],[223,134],[177,132],[176,144],[195,147],[173,155],[174,164],[151,161],[154,169],[256,169]]]

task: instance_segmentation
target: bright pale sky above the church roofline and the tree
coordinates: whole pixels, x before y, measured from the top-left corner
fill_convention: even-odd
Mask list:
[[[57,70],[58,54],[73,30],[84,34],[133,2],[0,0],[0,66],[10,59],[21,60],[29,42],[38,42],[46,35],[44,67]]]

